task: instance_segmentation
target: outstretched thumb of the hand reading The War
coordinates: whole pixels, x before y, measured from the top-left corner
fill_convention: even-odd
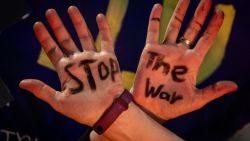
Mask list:
[[[237,89],[237,84],[232,81],[219,81],[202,90],[198,90],[196,101],[201,101],[201,103],[205,105],[206,103],[216,98],[219,98],[229,92],[234,92]]]

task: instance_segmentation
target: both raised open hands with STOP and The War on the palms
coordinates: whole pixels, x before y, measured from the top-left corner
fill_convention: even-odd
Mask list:
[[[131,93],[135,103],[155,120],[167,121],[192,112],[237,89],[231,81],[220,81],[204,89],[196,88],[199,67],[223,23],[224,15],[216,11],[204,34],[190,49],[187,44],[176,43],[188,5],[189,0],[179,1],[163,43],[159,43],[160,4],[154,5],[149,18],[146,45]],[[211,0],[201,0],[183,35],[185,39],[195,40],[210,7]],[[62,90],[56,91],[34,79],[21,81],[20,87],[49,103],[56,111],[93,126],[114,98],[124,91],[119,64],[104,15],[96,17],[101,34],[101,51],[97,52],[79,10],[70,6],[68,14],[84,51],[77,48],[54,9],[46,12],[46,18],[60,47],[41,22],[34,24],[36,37],[56,68]]]

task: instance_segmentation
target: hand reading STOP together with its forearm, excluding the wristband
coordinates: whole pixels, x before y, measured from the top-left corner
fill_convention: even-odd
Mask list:
[[[62,90],[56,91],[36,79],[22,80],[20,87],[44,100],[63,115],[93,127],[110,109],[115,99],[124,94],[119,64],[105,16],[99,14],[96,18],[101,34],[101,51],[96,52],[92,36],[79,10],[71,6],[68,13],[83,52],[76,47],[54,9],[46,12],[46,18],[61,48],[41,22],[34,24],[35,35],[56,68]],[[125,101],[119,102],[124,104]],[[133,102],[129,103],[128,109],[114,120],[103,135],[118,141],[179,140],[150,119]]]

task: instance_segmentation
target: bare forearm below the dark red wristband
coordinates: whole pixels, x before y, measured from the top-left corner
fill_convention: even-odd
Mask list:
[[[182,140],[151,119],[134,103],[129,104],[128,110],[123,112],[102,136],[92,132],[90,138],[92,141]]]

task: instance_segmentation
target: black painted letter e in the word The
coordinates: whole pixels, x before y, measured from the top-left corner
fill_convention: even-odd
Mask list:
[[[181,78],[181,75],[184,75],[188,72],[188,69],[186,66],[174,66],[174,69],[172,70],[172,79],[176,82],[183,82],[185,81],[185,78]]]

